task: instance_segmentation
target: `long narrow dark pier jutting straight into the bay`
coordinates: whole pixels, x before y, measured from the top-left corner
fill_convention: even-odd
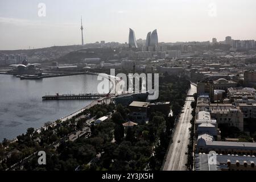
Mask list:
[[[44,100],[93,100],[101,97],[108,97],[109,94],[85,93],[85,94],[56,94],[52,96],[43,96]]]

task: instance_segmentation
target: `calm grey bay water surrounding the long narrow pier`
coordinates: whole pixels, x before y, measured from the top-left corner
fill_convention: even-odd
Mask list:
[[[12,75],[0,75],[0,77],[0,85],[5,85],[0,86],[1,140],[13,139],[26,133],[28,127],[40,128],[44,123],[74,113],[93,101],[98,103],[94,98],[42,101],[42,96],[47,94],[94,93],[98,85],[96,75],[60,76],[39,81],[20,80]],[[15,105],[12,104],[14,102]]]

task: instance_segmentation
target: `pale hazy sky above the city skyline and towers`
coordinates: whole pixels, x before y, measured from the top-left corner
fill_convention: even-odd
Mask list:
[[[46,16],[39,16],[39,3]],[[0,0],[0,49],[127,42],[158,30],[159,42],[256,39],[255,0]]]

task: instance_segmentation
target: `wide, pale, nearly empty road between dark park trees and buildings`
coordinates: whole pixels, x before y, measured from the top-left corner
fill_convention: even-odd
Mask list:
[[[188,95],[196,93],[196,86],[191,84],[191,89],[188,90]],[[191,102],[193,97],[187,97],[183,112],[180,114],[179,121],[176,123],[176,129],[173,135],[173,143],[167,151],[167,158],[163,166],[163,171],[185,171],[187,170],[187,155],[189,144],[189,127],[191,127]],[[178,143],[178,141],[180,142]]]

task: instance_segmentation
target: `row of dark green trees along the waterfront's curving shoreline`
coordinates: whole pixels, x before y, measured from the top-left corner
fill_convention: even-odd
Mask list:
[[[79,115],[67,119],[67,121],[55,121],[56,125],[46,123],[46,129],[36,132],[33,128],[28,128],[26,134],[19,135],[16,142],[9,142],[3,139],[0,143],[0,170],[10,168],[13,164],[34,154],[36,151],[45,150],[52,144],[67,139],[68,134],[73,131],[80,130],[86,125],[86,118],[76,119],[81,115],[90,114],[91,117],[101,117],[115,108],[114,104],[110,105],[94,105],[90,109],[84,110]]]

